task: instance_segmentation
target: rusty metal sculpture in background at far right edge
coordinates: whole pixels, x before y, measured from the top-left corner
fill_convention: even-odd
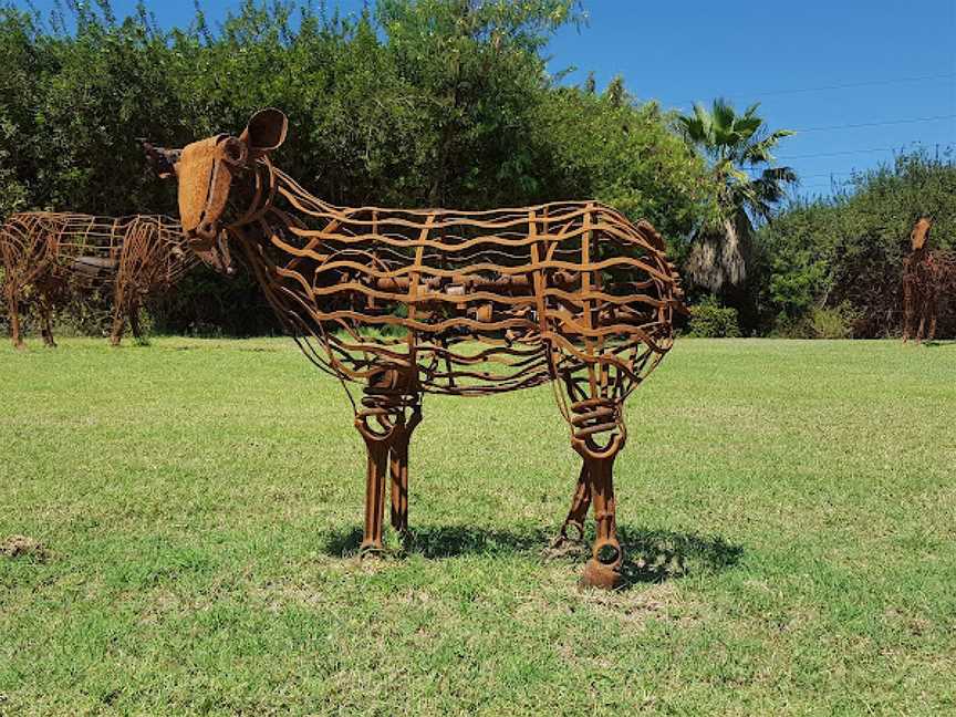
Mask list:
[[[903,263],[903,341],[936,336],[941,297],[956,295],[956,251],[929,249],[933,220],[921,218],[910,235],[912,252]],[[918,324],[917,324],[918,321]]]

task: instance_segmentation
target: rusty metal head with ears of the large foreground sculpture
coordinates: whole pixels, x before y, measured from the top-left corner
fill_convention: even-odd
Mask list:
[[[160,178],[179,185],[179,221],[189,248],[217,271],[232,273],[222,215],[233,180],[285,141],[289,121],[279,110],[260,110],[239,136],[220,134],[181,149],[143,142]]]

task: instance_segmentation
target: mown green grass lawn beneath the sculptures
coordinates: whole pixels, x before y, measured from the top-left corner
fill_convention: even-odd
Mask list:
[[[0,714],[956,713],[956,345],[679,341],[612,594],[541,558],[579,465],[548,387],[428,397],[415,543],[360,563],[362,444],[291,342],[0,377],[0,541],[42,544],[0,554]]]

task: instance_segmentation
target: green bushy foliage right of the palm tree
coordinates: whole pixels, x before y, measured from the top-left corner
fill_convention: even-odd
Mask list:
[[[761,313],[778,330],[809,325],[814,309],[841,310],[855,336],[898,332],[903,260],[921,216],[931,246],[956,247],[956,167],[923,152],[853,178],[852,194],[798,202],[759,235]],[[947,323],[948,322],[948,323]],[[956,320],[944,316],[946,335]]]

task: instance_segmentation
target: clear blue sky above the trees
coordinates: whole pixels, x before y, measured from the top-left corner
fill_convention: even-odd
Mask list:
[[[200,0],[211,22],[239,0]],[[25,0],[17,4],[27,7]],[[53,0],[33,0],[41,11]],[[166,27],[187,24],[193,0],[146,3]],[[318,4],[318,2],[316,2]],[[362,0],[328,0],[344,13]],[[122,15],[135,0],[114,0]],[[584,0],[589,22],[562,30],[550,67],[593,70],[599,87],[624,76],[638,97],[689,108],[723,95],[761,103],[770,125],[799,131],[781,145],[803,191],[829,194],[831,175],[892,160],[922,144],[956,145],[956,0],[724,2]]]

